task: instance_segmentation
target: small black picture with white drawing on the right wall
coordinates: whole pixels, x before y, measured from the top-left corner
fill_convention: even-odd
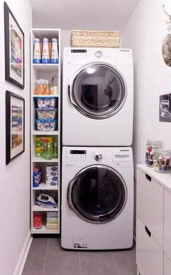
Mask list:
[[[159,97],[159,121],[171,122],[171,93]]]

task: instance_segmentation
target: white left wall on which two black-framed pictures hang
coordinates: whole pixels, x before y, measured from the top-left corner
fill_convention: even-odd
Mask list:
[[[29,0],[6,1],[25,35],[25,89],[5,81],[4,5],[0,1],[0,267],[12,275],[30,229],[30,28]],[[5,165],[5,90],[25,98],[25,153]]]

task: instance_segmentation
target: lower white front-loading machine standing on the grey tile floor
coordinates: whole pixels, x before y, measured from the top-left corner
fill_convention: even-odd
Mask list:
[[[132,148],[64,146],[62,247],[130,248],[133,193]]]

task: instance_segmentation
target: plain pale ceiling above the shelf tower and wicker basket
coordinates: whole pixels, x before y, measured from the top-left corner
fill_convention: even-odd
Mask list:
[[[33,28],[120,31],[139,0],[30,0]]]

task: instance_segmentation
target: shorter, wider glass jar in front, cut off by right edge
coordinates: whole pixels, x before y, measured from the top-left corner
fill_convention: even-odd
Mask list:
[[[171,150],[156,151],[153,159],[154,171],[159,173],[171,172]]]

